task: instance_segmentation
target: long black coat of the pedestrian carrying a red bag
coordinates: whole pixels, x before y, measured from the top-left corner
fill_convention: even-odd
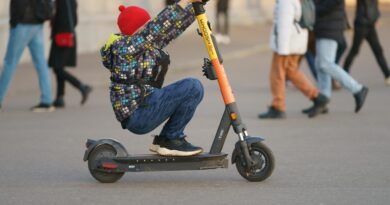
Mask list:
[[[76,0],[56,0],[56,2],[56,15],[53,18],[51,30],[52,43],[49,56],[49,67],[75,67],[77,61],[77,41],[75,32],[77,25],[77,2]],[[74,33],[75,43],[73,47],[58,47],[55,44],[55,35],[64,32]]]

